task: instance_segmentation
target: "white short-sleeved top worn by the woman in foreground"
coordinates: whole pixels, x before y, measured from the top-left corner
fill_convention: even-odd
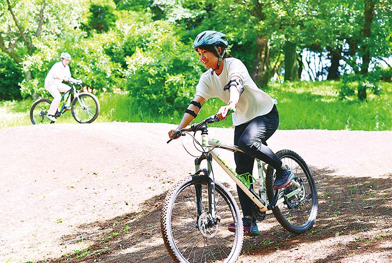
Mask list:
[[[203,97],[205,100],[218,97],[224,103],[228,103],[230,94],[228,90],[223,90],[224,86],[234,76],[243,80],[245,89],[238,101],[236,112],[232,114],[234,126],[247,123],[258,116],[269,113],[273,104],[277,104],[275,99],[272,99],[257,87],[248,69],[239,59],[226,58],[222,73],[219,76],[216,75],[216,72],[211,74],[211,71],[212,69],[209,69],[201,74],[196,86],[196,95]]]

